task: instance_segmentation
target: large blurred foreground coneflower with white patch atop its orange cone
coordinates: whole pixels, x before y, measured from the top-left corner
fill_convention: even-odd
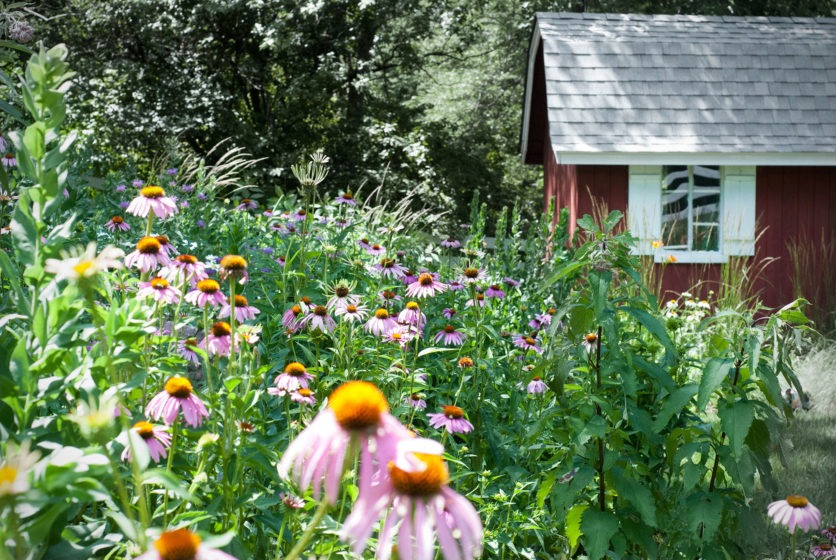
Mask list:
[[[385,515],[377,556],[389,558],[395,534],[400,558],[431,560],[436,540],[448,560],[473,560],[482,553],[482,522],[473,505],[447,486],[444,446],[424,438],[397,444],[368,493],[361,492],[340,530],[340,538],[362,555],[378,519]],[[387,512],[388,510],[388,512]]]

